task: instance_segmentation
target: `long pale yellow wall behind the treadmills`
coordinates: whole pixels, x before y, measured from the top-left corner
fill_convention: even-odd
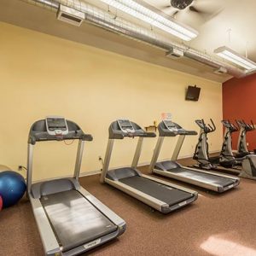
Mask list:
[[[27,134],[37,119],[49,114],[76,121],[94,137],[85,144],[82,172],[99,170],[108,125],[126,117],[139,125],[171,112],[184,128],[198,131],[194,120],[222,118],[221,84],[174,72],[108,51],[0,23],[0,163],[26,165]],[[199,102],[184,101],[189,84],[201,87]],[[212,150],[222,141],[221,126],[211,136]],[[168,139],[160,159],[172,154]],[[188,137],[181,156],[194,152],[197,137]],[[136,140],[118,142],[112,166],[129,164]],[[145,140],[141,162],[151,159],[155,139]],[[76,143],[41,143],[35,148],[34,178],[71,174]]]

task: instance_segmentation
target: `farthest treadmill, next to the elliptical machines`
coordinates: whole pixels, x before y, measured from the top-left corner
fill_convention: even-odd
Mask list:
[[[181,166],[177,163],[177,156],[182,148],[184,138],[188,135],[197,135],[196,131],[186,131],[180,125],[177,125],[169,119],[160,122],[160,125],[158,125],[158,131],[160,136],[154,148],[154,154],[149,166],[151,172],[162,176],[171,177],[184,183],[190,183],[201,188],[213,190],[218,193],[232,189],[238,186],[240,183],[239,177],[196,170],[193,168]],[[157,162],[165,137],[176,136],[179,136],[179,138],[176,148],[172,154],[172,160]]]

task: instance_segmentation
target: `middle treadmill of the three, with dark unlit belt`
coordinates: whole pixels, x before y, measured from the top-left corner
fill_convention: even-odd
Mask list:
[[[189,205],[198,193],[176,184],[167,183],[137,170],[144,137],[156,137],[128,119],[114,121],[108,129],[108,147],[102,168],[101,182],[131,195],[160,212],[167,213]],[[108,170],[114,140],[138,137],[137,148],[131,166]]]

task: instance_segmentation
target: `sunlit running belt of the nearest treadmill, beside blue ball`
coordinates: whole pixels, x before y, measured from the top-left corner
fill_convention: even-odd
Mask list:
[[[116,225],[76,190],[45,195],[41,203],[63,252],[117,230]]]

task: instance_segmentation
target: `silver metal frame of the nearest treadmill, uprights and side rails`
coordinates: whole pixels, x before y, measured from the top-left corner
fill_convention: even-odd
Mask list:
[[[84,152],[84,141],[79,139],[78,151],[76,156],[76,163],[74,169],[73,179],[74,183],[78,183],[79,181],[79,173],[81,168],[82,156]],[[28,143],[27,148],[27,196],[32,204],[32,211],[34,213],[34,217],[38,224],[38,230],[41,236],[41,240],[44,246],[44,252],[46,255],[57,255],[57,253],[65,256],[77,255],[78,253],[84,253],[89,249],[97,247],[99,243],[97,243],[98,239],[94,241],[89,241],[79,247],[75,247],[65,253],[61,252],[61,247],[59,242],[56,239],[54,230],[52,230],[51,224],[49,223],[49,218],[44,212],[44,207],[41,204],[40,199],[35,199],[32,195],[32,157],[33,157],[33,145],[32,143]],[[79,183],[78,183],[79,184]],[[96,197],[91,195],[87,190],[82,188],[80,185],[76,186],[76,190],[84,196],[87,201],[96,207],[100,212],[102,212],[107,218],[109,218],[113,224],[118,227],[113,233],[110,233],[106,236],[101,237],[101,243],[105,243],[110,241],[116,236],[121,235],[125,231],[125,221],[120,218],[116,213],[111,211],[108,207],[102,204],[101,201],[97,200]]]

